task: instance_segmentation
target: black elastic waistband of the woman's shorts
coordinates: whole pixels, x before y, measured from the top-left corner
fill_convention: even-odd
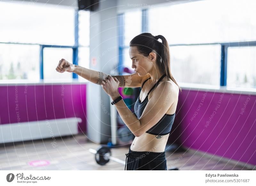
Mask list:
[[[150,151],[132,151],[129,148],[129,157],[132,159],[148,158],[151,160],[165,160],[165,151],[161,153],[150,152]]]

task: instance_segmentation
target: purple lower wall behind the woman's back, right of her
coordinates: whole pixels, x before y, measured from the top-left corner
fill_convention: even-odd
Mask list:
[[[169,142],[256,165],[256,96],[182,90]]]

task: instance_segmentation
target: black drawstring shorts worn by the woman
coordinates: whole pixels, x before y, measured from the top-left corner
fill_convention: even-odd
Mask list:
[[[138,152],[129,148],[129,153],[125,155],[124,170],[167,170],[165,152]]]

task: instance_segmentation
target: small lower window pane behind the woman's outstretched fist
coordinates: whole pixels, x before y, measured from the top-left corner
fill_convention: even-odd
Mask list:
[[[44,79],[71,81],[72,73],[60,73],[55,69],[62,58],[66,59],[69,63],[73,63],[72,57],[72,48],[44,48]]]

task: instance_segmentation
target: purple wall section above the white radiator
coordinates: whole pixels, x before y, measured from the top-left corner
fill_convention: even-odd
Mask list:
[[[83,122],[78,123],[78,130],[85,132],[85,91],[85,84],[0,86],[0,123],[80,117]]]

